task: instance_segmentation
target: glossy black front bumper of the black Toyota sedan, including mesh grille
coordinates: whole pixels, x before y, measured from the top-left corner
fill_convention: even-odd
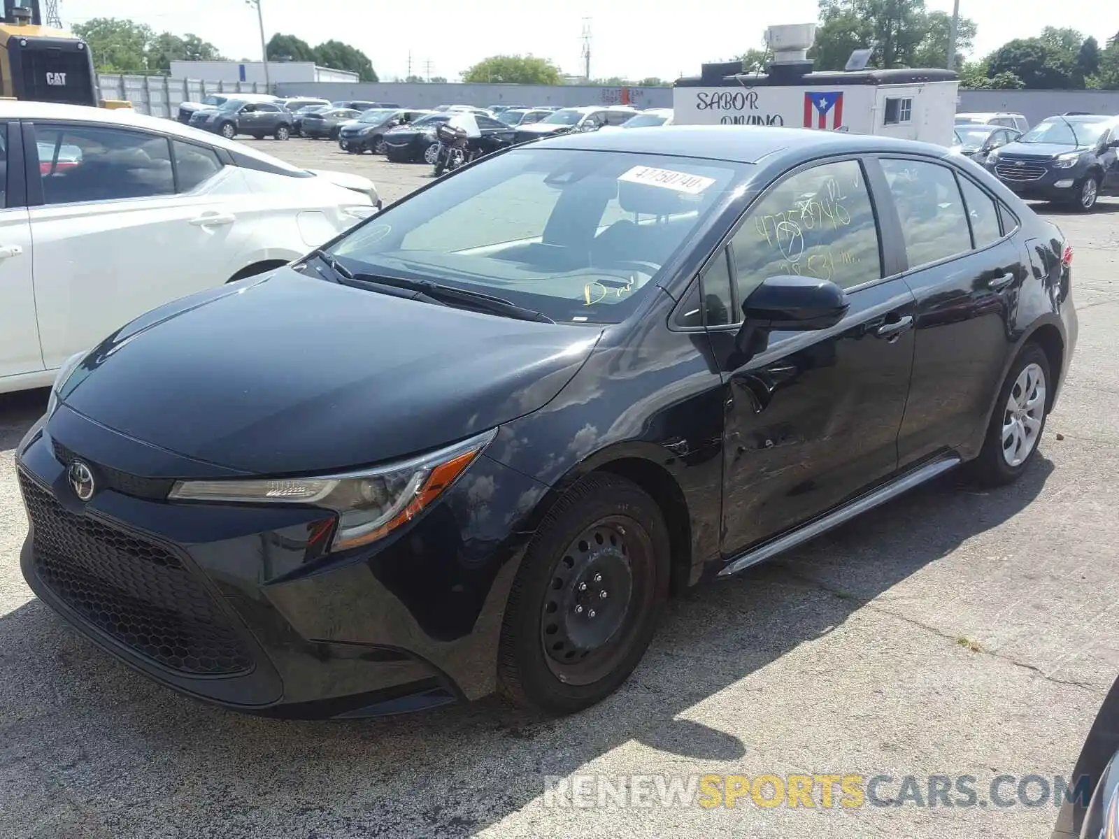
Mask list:
[[[67,482],[75,456],[104,487],[85,503]],[[485,455],[384,544],[337,556],[319,547],[329,540],[321,509],[161,500],[171,479],[137,475],[191,477],[199,464],[65,406],[31,430],[17,466],[28,585],[168,687],[300,718],[416,710],[496,688],[525,539],[506,511],[538,484]],[[495,505],[487,521],[477,515],[482,486]]]

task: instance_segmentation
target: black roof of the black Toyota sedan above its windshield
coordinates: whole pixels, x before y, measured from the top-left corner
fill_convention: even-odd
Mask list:
[[[768,125],[661,125],[642,131],[592,131],[538,140],[549,149],[670,154],[756,163],[782,151],[809,155],[918,151],[943,157],[947,149],[912,140]]]

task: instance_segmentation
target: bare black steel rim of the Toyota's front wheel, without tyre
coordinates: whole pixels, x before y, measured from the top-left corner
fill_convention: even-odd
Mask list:
[[[649,535],[627,516],[596,521],[564,550],[540,609],[545,660],[561,681],[593,684],[629,652],[652,602],[651,556]]]

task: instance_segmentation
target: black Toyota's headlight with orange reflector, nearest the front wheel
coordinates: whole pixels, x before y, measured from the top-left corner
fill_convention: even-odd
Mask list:
[[[431,506],[493,440],[497,430],[397,463],[323,478],[178,481],[169,499],[311,505],[338,513],[332,550],[386,536]]]

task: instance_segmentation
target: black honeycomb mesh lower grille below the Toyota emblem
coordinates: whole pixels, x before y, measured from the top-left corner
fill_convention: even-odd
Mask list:
[[[66,510],[22,472],[19,483],[35,569],[82,618],[175,670],[216,676],[252,667],[213,597],[175,554]]]

